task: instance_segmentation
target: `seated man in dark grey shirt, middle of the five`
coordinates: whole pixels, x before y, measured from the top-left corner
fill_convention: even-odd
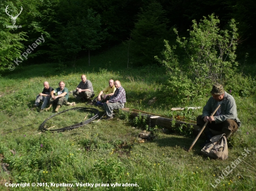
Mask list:
[[[86,79],[85,75],[81,76],[81,82],[73,91],[73,96],[76,100],[84,100],[91,102],[91,98],[94,97],[94,89],[92,83]]]

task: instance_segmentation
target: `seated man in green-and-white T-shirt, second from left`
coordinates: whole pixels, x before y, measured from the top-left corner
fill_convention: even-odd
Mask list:
[[[55,93],[57,93],[57,96],[54,96]],[[65,83],[61,81],[59,83],[59,88],[56,88],[53,91],[51,91],[51,97],[47,98],[50,106],[45,110],[48,111],[52,107],[53,103],[57,103],[57,107],[54,112],[58,112],[61,105],[67,105],[67,99],[68,99],[68,90],[67,88],[65,88]]]

